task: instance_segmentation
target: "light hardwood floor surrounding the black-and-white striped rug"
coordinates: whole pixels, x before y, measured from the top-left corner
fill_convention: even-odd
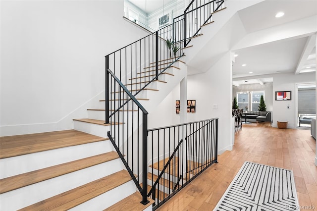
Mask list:
[[[226,151],[159,211],[212,211],[245,161],[291,169],[301,210],[317,211],[316,141],[310,130],[243,124]],[[310,206],[310,207],[309,207]],[[312,207],[315,209],[312,209]],[[305,209],[308,208],[308,209]]]

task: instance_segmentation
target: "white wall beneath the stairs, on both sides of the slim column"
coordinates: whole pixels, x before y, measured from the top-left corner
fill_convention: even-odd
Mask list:
[[[196,113],[187,113],[187,122],[218,117],[218,152],[231,150],[232,69],[230,52],[222,56],[206,73],[189,75],[187,99],[196,100]],[[190,67],[188,67],[189,69]],[[221,72],[221,74],[219,74]],[[149,128],[180,123],[175,101],[180,99],[176,87],[158,108],[149,114]],[[217,109],[213,109],[213,105]],[[184,112],[184,111],[180,111]]]

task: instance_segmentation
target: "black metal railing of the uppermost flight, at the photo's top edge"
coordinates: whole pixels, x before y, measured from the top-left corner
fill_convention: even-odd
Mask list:
[[[184,21],[184,47],[191,41],[190,38],[201,34],[203,25],[211,23],[212,13],[223,8],[223,2],[224,0],[192,0],[184,14],[174,18],[174,21]]]

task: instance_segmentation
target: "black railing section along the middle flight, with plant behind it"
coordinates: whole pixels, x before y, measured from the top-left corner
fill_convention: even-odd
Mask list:
[[[106,55],[109,69],[136,96],[151,82],[159,80],[159,75],[183,55],[182,27],[182,20],[175,21]]]

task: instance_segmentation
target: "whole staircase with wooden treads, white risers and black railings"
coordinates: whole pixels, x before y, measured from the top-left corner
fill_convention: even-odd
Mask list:
[[[99,107],[87,108],[88,118],[73,119],[74,130],[1,137],[0,210],[141,211],[152,210],[153,203],[157,209],[217,161],[216,139],[208,138],[209,132],[216,134],[217,119],[172,126],[174,143],[165,144],[159,135],[153,138],[171,127],[147,129],[147,112],[187,75],[184,51],[190,49],[191,39],[186,33],[175,38],[181,50],[170,57],[163,39],[172,36],[172,26],[168,27],[145,38],[144,43],[156,43],[148,46],[151,55],[142,53],[147,44],[141,39],[140,44],[125,47],[129,49],[124,60],[122,49],[106,56],[106,98],[100,99]],[[144,59],[134,60],[132,52]],[[122,73],[118,66],[131,71]],[[183,134],[176,143],[175,127]],[[209,140],[205,135],[193,138],[198,133],[206,133]],[[190,149],[193,140],[200,144]],[[158,152],[148,154],[151,148]]]

